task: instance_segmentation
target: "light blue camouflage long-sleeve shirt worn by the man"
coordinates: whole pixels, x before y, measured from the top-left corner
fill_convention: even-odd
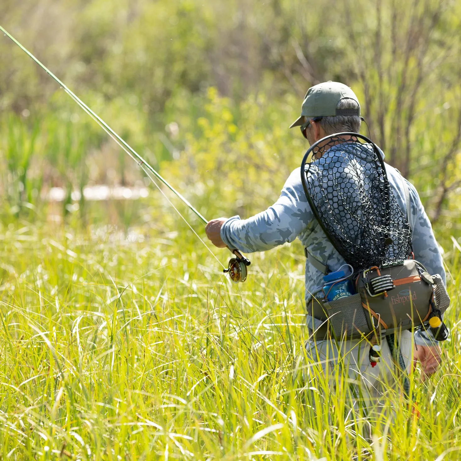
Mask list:
[[[384,157],[384,154],[382,154]],[[414,257],[431,274],[440,274],[445,282],[442,255],[437,246],[432,226],[420,201],[418,192],[399,171],[386,165],[387,176],[396,196],[397,203],[406,212],[405,190],[402,180],[407,183],[410,194],[410,213],[408,219],[412,227],[412,246]],[[314,218],[301,183],[301,170],[297,168],[290,174],[278,200],[265,211],[248,219],[239,216],[229,218],[221,227],[221,238],[229,248],[242,253],[265,251],[293,242],[296,237],[308,252],[326,264],[331,271],[337,271],[345,261],[325,236]],[[323,273],[306,260],[306,304],[312,296],[321,296]],[[319,320],[307,316],[307,325],[316,328]],[[416,331],[415,343],[429,344],[433,341],[430,333]]]

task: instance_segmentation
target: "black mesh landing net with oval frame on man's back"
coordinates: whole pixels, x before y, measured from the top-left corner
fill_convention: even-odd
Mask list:
[[[370,140],[353,133],[320,140],[304,156],[301,179],[320,225],[356,271],[408,258],[411,229]]]

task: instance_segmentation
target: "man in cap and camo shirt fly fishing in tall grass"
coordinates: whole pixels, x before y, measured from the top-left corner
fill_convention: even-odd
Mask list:
[[[448,333],[432,327],[443,324],[448,305],[435,302],[439,288],[446,293],[445,271],[416,189],[384,164],[370,140],[354,136],[360,105],[346,85],[310,88],[290,128],[296,126],[313,149],[312,161],[290,174],[265,211],[209,221],[208,238],[217,247],[251,253],[298,237],[307,257],[306,348],[313,360],[325,370],[342,357],[349,378],[371,397],[378,395],[378,383],[392,382],[394,363],[410,372],[412,361],[419,361],[425,379],[441,362],[434,334],[445,339]],[[418,324],[427,328],[414,330]]]

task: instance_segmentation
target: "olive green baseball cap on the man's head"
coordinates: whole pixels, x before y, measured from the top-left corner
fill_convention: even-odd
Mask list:
[[[328,82],[319,83],[307,90],[306,96],[302,101],[301,117],[295,123],[291,124],[290,128],[294,126],[301,126],[304,124],[304,117],[334,117],[336,115],[358,115],[360,116],[360,104],[358,109],[337,109],[340,100],[344,98],[355,99],[357,104],[359,100],[355,93],[344,83]]]

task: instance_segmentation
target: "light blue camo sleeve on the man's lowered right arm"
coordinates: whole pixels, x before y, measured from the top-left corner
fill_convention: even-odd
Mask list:
[[[405,180],[406,181],[406,180]],[[408,181],[407,181],[408,183]],[[439,274],[446,284],[443,259],[437,241],[432,231],[431,222],[421,203],[420,196],[414,186],[408,183],[411,203],[411,225],[413,227],[412,246],[414,258],[420,261],[430,274]],[[414,333],[414,342],[420,346],[437,344],[430,330],[417,330]]]

